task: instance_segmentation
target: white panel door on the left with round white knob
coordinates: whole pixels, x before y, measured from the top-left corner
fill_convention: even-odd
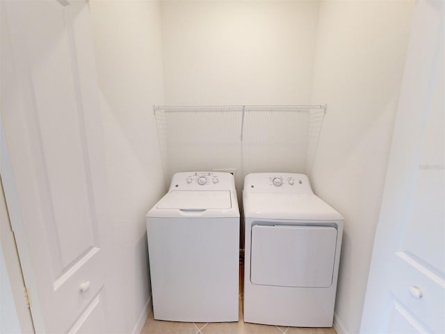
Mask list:
[[[104,331],[104,157],[83,0],[1,1],[1,176],[39,333]]]

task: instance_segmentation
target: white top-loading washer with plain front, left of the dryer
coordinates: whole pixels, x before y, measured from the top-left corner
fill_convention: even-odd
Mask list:
[[[232,174],[173,175],[146,216],[154,319],[238,321],[239,218]]]

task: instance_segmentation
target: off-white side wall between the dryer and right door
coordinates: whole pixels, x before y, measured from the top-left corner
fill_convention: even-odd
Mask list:
[[[336,318],[358,333],[414,1],[323,1],[312,98],[328,105],[314,191],[345,216]]]

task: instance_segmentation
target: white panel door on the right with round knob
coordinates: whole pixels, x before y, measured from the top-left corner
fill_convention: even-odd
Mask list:
[[[416,3],[362,333],[445,333],[442,6]]]

